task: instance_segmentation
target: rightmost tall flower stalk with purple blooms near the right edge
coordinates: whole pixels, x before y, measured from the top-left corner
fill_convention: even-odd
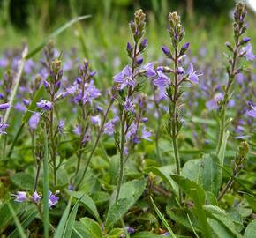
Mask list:
[[[243,37],[246,32],[247,25],[245,23],[246,9],[244,3],[238,3],[234,12],[234,23],[233,23],[233,38],[234,42],[226,42],[226,47],[230,50],[230,55],[227,55],[228,65],[228,81],[224,88],[224,95],[220,101],[220,112],[219,112],[219,136],[218,144],[216,148],[217,154],[220,152],[222,147],[222,140],[224,134],[228,128],[229,121],[227,120],[226,110],[232,96],[232,86],[238,73],[243,70],[243,65],[240,63],[240,59],[245,57],[246,60],[253,60],[255,56],[252,54],[252,46],[249,43],[249,37]]]

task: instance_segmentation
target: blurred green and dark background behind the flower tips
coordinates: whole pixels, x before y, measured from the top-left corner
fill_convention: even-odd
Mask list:
[[[84,48],[82,54],[87,56],[94,50],[96,54],[90,54],[92,57],[108,49],[109,54],[122,54],[126,41],[131,40],[128,22],[138,8],[147,13],[147,39],[152,56],[154,48],[159,50],[162,44],[168,44],[169,11],[178,11],[182,16],[185,41],[191,41],[193,50],[202,45],[222,50],[225,41],[232,37],[231,12],[235,3],[234,0],[1,0],[0,52],[5,48],[20,48],[23,42],[34,48],[68,20],[90,14],[90,19],[58,36],[56,47]],[[255,22],[253,11],[247,20]],[[249,36],[253,38],[255,34],[251,28]]]

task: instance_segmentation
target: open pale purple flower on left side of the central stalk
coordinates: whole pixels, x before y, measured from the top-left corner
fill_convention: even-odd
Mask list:
[[[125,86],[135,86],[135,81],[132,79],[132,69],[129,65],[126,65],[123,71],[118,72],[114,77],[113,81],[120,84],[122,90]]]

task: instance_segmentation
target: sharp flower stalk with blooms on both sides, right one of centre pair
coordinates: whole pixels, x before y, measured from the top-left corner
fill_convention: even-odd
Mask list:
[[[171,60],[172,67],[160,66],[157,71],[157,78],[153,83],[160,91],[166,89],[169,98],[169,121],[167,123],[167,130],[173,145],[175,164],[177,168],[177,175],[180,175],[180,157],[177,144],[177,138],[182,128],[182,117],[180,109],[182,103],[180,101],[184,83],[197,84],[199,82],[199,72],[193,70],[192,63],[189,64],[187,71],[184,71],[181,63],[185,52],[189,48],[189,43],[185,43],[182,47],[180,44],[184,38],[184,28],[181,25],[180,16],[177,12],[169,13],[169,37],[171,40],[171,47],[173,52],[166,46],[162,46],[163,53]],[[173,80],[170,80],[169,74]],[[181,190],[179,190],[179,200],[182,201]]]

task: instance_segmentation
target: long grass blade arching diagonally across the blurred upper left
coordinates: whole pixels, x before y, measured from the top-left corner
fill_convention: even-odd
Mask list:
[[[64,26],[57,28],[54,33],[49,34],[49,36],[44,41],[42,41],[40,45],[38,45],[36,48],[34,48],[32,51],[30,51],[26,55],[26,57],[25,57],[26,60],[33,57],[36,53],[38,53],[41,50],[41,48],[44,48],[44,46],[48,43],[49,40],[55,38],[58,34],[64,32],[65,29],[69,28],[74,23],[78,22],[79,20],[88,19],[90,17],[91,17],[90,15],[81,16],[81,17],[78,17],[78,18],[68,21],[66,24],[64,24]]]

